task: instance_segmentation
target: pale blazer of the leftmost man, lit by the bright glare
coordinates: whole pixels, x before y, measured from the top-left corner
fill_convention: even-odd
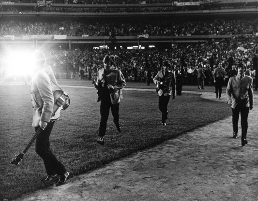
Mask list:
[[[50,122],[54,106],[53,85],[44,70],[36,72],[31,82],[32,126],[39,121]]]

